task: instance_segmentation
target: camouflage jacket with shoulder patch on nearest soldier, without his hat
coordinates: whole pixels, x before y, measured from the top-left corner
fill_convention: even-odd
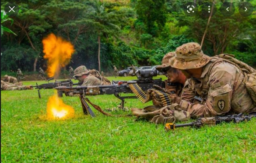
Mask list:
[[[256,112],[241,69],[223,60],[211,60],[201,78],[186,81],[179,103],[191,117]]]

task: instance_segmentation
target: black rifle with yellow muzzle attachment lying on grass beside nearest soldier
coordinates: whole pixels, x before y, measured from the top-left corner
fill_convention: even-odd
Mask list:
[[[243,122],[243,121],[247,122],[247,121],[251,120],[252,117],[256,117],[256,113],[249,114],[249,115],[243,115],[242,113],[240,113],[238,115],[235,114],[235,115],[227,115],[227,116],[200,118],[194,122],[178,124],[178,125],[173,124],[173,123],[166,123],[165,131],[169,131],[171,129],[185,127],[185,126],[200,128],[203,125],[217,125],[222,122],[227,122],[227,123],[230,123],[230,122],[239,123],[239,122]]]

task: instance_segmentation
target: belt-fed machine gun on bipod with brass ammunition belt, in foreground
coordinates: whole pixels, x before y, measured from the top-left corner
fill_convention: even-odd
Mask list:
[[[154,79],[154,80],[134,80],[134,81],[113,81],[112,85],[97,85],[97,86],[58,86],[54,89],[60,92],[72,92],[72,94],[79,95],[81,100],[81,104],[83,107],[84,114],[88,113],[94,117],[95,114],[92,112],[91,108],[87,104],[89,102],[91,105],[95,107],[95,109],[99,110],[103,113],[102,109],[99,106],[92,104],[86,95],[115,95],[119,98],[121,102],[122,109],[124,108],[124,99],[125,98],[140,98],[140,100],[144,100],[143,92],[146,92],[149,88],[153,88],[153,85],[158,85],[160,87],[164,87],[164,82],[162,79]],[[120,93],[135,93],[136,96],[120,96]],[[86,102],[87,101],[87,102]],[[107,114],[107,113],[103,113]]]

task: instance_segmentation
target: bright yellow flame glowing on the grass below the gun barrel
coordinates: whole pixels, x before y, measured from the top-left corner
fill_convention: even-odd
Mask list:
[[[48,119],[68,119],[74,116],[74,109],[63,103],[58,95],[53,95],[47,103]]]

